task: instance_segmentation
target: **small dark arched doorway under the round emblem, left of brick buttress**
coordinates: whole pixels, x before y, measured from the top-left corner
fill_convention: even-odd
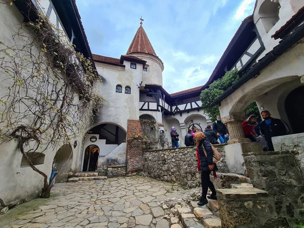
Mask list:
[[[83,172],[97,170],[97,162],[99,156],[99,147],[97,145],[89,145],[85,150]]]

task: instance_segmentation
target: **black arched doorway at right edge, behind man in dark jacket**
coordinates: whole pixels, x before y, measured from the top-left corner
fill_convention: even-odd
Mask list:
[[[294,134],[304,132],[304,86],[291,91],[285,99],[285,111]]]

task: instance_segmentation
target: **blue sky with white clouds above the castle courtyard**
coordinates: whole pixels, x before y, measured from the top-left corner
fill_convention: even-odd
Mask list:
[[[93,54],[126,54],[142,16],[168,93],[204,85],[255,0],[77,0]]]

